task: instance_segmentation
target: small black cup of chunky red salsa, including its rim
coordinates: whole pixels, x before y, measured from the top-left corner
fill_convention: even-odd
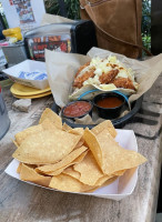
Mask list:
[[[61,115],[68,119],[83,118],[87,114],[92,115],[93,103],[88,100],[78,100],[63,107]]]

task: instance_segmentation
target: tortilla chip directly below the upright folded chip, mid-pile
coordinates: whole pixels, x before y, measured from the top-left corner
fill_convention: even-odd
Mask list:
[[[80,181],[88,185],[94,185],[95,182],[103,176],[93,154],[91,151],[88,152],[82,162],[74,164],[73,169],[80,172]]]

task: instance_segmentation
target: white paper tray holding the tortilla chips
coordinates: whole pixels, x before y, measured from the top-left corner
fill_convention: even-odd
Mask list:
[[[134,132],[132,130],[117,130],[118,135],[115,138],[115,141],[119,142],[121,147],[123,147],[126,150],[133,150],[138,152],[138,143],[134,135]],[[8,165],[6,169],[6,173],[20,180],[19,173],[17,173],[17,169],[19,165],[18,160],[12,160],[12,162]],[[126,172],[119,176],[113,183],[100,188],[92,193],[77,193],[77,194],[83,194],[83,195],[92,195],[97,198],[103,198],[103,199],[112,199],[115,201],[120,201],[123,198],[126,198],[128,195],[132,194],[138,181],[138,169],[130,169],[126,170]],[[23,181],[27,182],[27,181]],[[27,182],[32,185],[41,186],[36,183]],[[44,188],[44,186],[43,186]],[[44,188],[50,189],[50,188]],[[58,191],[58,190],[54,190]],[[58,192],[64,192],[64,191],[58,191]],[[74,192],[68,192],[68,193],[74,193]]]

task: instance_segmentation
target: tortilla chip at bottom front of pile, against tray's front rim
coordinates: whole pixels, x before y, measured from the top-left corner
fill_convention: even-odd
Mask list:
[[[53,176],[51,179],[49,186],[68,192],[83,192],[85,190],[91,189],[91,186],[85,185],[81,183],[79,180],[63,173]]]

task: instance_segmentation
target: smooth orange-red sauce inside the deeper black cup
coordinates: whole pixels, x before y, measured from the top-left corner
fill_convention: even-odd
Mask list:
[[[120,107],[123,101],[117,97],[102,98],[97,102],[97,104],[101,108],[117,108]]]

